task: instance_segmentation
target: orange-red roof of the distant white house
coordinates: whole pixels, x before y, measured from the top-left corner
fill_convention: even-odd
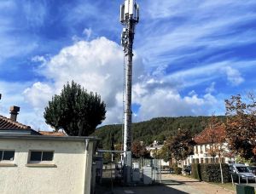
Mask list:
[[[225,128],[218,126],[217,128],[206,128],[200,134],[195,135],[196,144],[211,144],[224,140]]]

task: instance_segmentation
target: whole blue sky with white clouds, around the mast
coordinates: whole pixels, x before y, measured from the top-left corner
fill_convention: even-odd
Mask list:
[[[44,107],[75,80],[101,94],[103,124],[121,123],[123,1],[0,0],[0,114],[49,129]],[[224,99],[253,91],[254,0],[137,1],[133,120],[224,114]]]

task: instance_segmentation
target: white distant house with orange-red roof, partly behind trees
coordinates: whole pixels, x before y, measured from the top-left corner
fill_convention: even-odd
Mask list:
[[[235,158],[229,155],[230,151],[227,147],[227,143],[223,143],[221,145],[216,145],[215,140],[216,138],[224,136],[224,128],[219,127],[215,128],[214,133],[210,133],[211,128],[206,128],[200,134],[197,134],[194,138],[195,146],[194,146],[194,155],[189,156],[183,164],[189,163],[234,163]],[[211,156],[211,149],[212,147],[221,146],[224,150],[221,156],[219,157],[218,154],[213,158]],[[213,161],[214,160],[214,161]]]

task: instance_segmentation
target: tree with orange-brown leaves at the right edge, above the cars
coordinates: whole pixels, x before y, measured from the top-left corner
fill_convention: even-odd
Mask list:
[[[225,100],[227,124],[226,138],[230,151],[240,157],[256,161],[256,100],[248,94],[247,102],[241,95]]]

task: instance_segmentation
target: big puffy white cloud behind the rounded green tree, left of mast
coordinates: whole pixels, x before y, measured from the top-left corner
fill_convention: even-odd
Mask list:
[[[124,58],[122,48],[105,37],[90,42],[79,41],[61,49],[49,61],[44,61],[40,73],[51,80],[34,83],[24,96],[35,109],[42,108],[53,94],[60,94],[67,82],[74,80],[88,91],[102,96],[107,105],[107,123],[120,123],[122,118],[122,90],[124,86]],[[34,60],[42,60],[36,57]],[[134,82],[143,74],[142,61],[135,55]]]

